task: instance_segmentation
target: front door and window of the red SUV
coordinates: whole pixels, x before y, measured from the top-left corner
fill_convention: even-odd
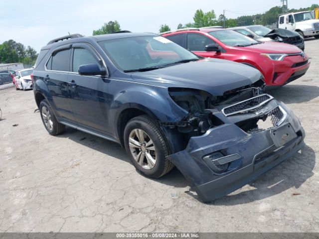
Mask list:
[[[215,52],[215,51],[205,51],[205,46],[208,44],[216,44],[215,41],[208,38],[207,36],[204,36],[202,34],[196,34],[196,33],[187,33],[187,42],[186,42],[186,48],[189,51],[192,51],[194,54],[202,56],[202,57],[212,57],[212,58],[219,58],[223,59],[223,53],[222,52]]]

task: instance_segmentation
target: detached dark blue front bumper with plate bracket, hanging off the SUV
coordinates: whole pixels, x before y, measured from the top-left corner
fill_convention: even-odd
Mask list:
[[[211,111],[224,124],[191,137],[185,150],[169,156],[203,202],[218,199],[255,180],[304,146],[305,131],[299,119],[275,99],[247,114]],[[272,117],[274,125],[270,128],[251,132],[238,126],[238,121],[267,114],[280,118]]]

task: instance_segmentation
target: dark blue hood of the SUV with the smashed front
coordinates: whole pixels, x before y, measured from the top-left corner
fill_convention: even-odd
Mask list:
[[[205,58],[147,72],[134,72],[132,79],[157,86],[204,90],[214,96],[258,81],[253,67],[220,59]]]

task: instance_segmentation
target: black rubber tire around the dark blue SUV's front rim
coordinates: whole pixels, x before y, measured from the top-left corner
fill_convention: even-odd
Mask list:
[[[133,153],[130,148],[129,138],[130,134],[135,130],[143,130],[146,137],[149,137],[153,141],[153,145],[156,151],[156,163],[151,169],[143,168],[137,160],[134,158]],[[169,155],[170,149],[167,144],[163,133],[157,123],[150,117],[138,116],[131,119],[124,130],[124,144],[125,149],[130,157],[131,162],[135,168],[143,175],[150,178],[159,178],[164,174],[168,173],[173,167],[172,164],[166,157]],[[145,158],[145,162],[147,158]]]

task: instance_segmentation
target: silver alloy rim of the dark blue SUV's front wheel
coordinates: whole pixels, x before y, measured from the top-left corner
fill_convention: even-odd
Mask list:
[[[129,145],[133,158],[144,169],[154,168],[157,153],[151,137],[142,129],[135,128],[129,136]]]

